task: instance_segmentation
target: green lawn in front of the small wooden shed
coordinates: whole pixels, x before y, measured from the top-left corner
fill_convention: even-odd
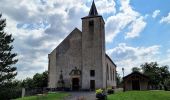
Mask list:
[[[170,100],[170,91],[127,91],[108,95],[108,100]]]

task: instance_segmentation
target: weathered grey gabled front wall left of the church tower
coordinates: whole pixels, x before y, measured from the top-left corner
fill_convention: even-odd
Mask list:
[[[49,55],[49,84],[50,88],[56,88],[59,76],[63,74],[66,87],[71,86],[69,73],[77,67],[81,69],[81,31],[75,28]]]

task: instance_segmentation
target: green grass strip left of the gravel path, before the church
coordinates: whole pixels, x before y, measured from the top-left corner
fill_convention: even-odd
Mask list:
[[[63,100],[64,97],[69,96],[68,93],[48,93],[47,95],[39,95],[39,96],[28,96],[24,98],[19,98],[16,100]]]

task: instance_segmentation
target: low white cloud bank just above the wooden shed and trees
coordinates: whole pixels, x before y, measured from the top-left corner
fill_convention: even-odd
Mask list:
[[[117,70],[121,73],[121,68],[125,68],[126,74],[131,72],[132,67],[139,67],[145,62],[158,61],[160,46],[131,47],[125,43],[118,44],[117,47],[107,50],[113,61],[117,64]]]

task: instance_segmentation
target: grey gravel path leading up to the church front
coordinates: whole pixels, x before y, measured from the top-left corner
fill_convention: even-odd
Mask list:
[[[95,92],[69,92],[71,96],[67,97],[65,100],[96,100]]]

